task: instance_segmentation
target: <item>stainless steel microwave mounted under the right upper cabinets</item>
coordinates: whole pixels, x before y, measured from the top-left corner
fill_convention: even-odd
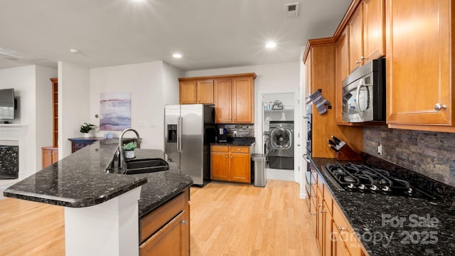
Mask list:
[[[342,86],[343,121],[385,121],[385,58],[355,69]]]

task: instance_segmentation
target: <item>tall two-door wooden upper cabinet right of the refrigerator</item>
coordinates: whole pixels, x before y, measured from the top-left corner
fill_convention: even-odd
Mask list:
[[[215,78],[215,123],[254,123],[255,78],[255,73]]]

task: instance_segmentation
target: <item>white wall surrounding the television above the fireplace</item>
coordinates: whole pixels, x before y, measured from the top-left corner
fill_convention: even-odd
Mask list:
[[[14,88],[18,101],[16,116],[11,123],[28,127],[24,177],[41,170],[41,146],[52,145],[52,93],[49,79],[56,76],[57,70],[37,65],[0,70],[0,88]]]

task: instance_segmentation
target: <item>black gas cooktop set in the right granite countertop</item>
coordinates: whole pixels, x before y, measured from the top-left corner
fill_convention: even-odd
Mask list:
[[[326,164],[322,166],[326,176],[338,191],[363,193],[385,193],[390,196],[437,199],[435,196],[416,188],[389,171],[375,169],[361,164]]]

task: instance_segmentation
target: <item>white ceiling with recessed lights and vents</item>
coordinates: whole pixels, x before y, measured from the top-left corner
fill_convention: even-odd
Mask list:
[[[57,68],[58,61],[99,68],[164,60],[183,70],[296,62],[307,40],[333,36],[350,1],[1,0],[0,47],[46,59],[0,55],[0,69]],[[299,17],[285,18],[284,5],[295,2]],[[267,41],[277,48],[265,48]]]

